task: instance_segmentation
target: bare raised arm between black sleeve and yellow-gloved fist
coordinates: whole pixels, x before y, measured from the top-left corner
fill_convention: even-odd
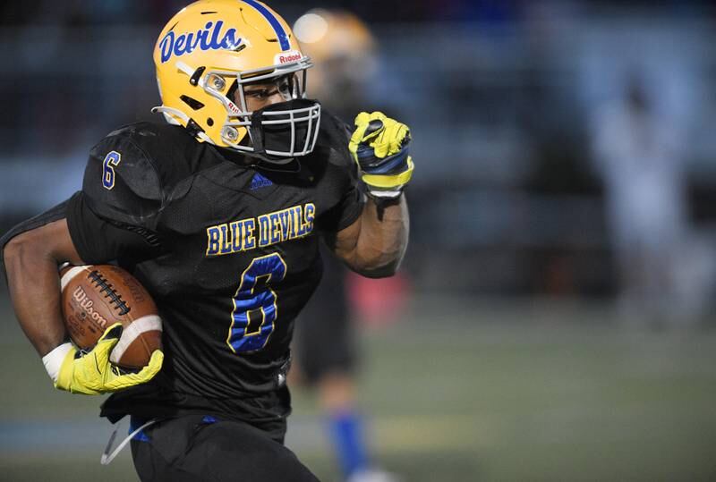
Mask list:
[[[405,255],[410,222],[405,196],[389,206],[368,199],[362,215],[330,240],[338,258],[371,278],[394,275]]]

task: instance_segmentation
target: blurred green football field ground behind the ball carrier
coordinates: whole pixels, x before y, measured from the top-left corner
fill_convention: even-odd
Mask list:
[[[0,480],[136,480],[99,465],[99,400],[56,392],[0,299]],[[420,297],[365,330],[362,406],[405,482],[716,479],[716,332],[618,326],[579,303]],[[311,393],[287,444],[337,480]]]

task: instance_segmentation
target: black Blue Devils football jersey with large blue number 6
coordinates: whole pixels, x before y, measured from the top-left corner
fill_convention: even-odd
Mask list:
[[[282,166],[169,124],[135,123],[92,148],[68,207],[72,241],[86,263],[114,260],[152,294],[166,357],[105,415],[286,418],[289,342],[320,281],[320,233],[362,211],[346,132],[324,113],[314,151]]]

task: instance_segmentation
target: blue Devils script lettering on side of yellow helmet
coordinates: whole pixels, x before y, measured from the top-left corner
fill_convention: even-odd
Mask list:
[[[241,37],[236,37],[236,29],[228,29],[222,35],[221,29],[224,21],[207,22],[203,29],[195,32],[176,35],[173,31],[168,32],[159,41],[161,61],[165,63],[172,58],[172,55],[180,57],[184,54],[191,54],[194,50],[235,50],[242,43]]]

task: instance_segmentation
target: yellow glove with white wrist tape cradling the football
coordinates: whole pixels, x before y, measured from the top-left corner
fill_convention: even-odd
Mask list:
[[[107,328],[97,345],[88,353],[82,354],[71,343],[64,343],[50,351],[43,357],[43,361],[47,372],[55,380],[55,387],[71,393],[98,395],[149,382],[162,368],[164,353],[154,351],[149,365],[141,368],[138,373],[120,374],[119,369],[109,361],[109,354],[121,335],[122,324],[117,323]],[[62,355],[64,357],[60,361]],[[58,364],[57,370],[53,366]]]

